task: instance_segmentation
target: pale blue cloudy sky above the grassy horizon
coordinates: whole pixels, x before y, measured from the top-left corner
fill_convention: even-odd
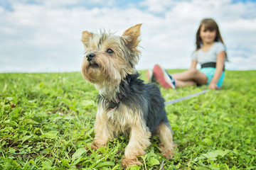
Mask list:
[[[0,1],[0,72],[80,72],[83,30],[142,25],[137,69],[187,69],[201,19],[217,21],[227,69],[256,69],[256,1]]]

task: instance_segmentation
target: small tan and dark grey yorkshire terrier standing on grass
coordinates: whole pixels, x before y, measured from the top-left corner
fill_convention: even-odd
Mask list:
[[[166,159],[174,156],[172,130],[164,108],[164,98],[156,84],[144,84],[135,65],[139,61],[140,27],[137,24],[122,36],[113,33],[82,32],[85,57],[82,77],[99,90],[95,138],[90,145],[98,149],[119,134],[129,137],[122,165],[141,165],[152,134],[159,135]]]

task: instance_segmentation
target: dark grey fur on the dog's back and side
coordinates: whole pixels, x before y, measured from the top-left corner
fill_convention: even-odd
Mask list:
[[[144,84],[144,81],[139,79],[138,73],[128,77],[130,82],[129,86],[123,88],[126,97],[122,98],[122,103],[142,110],[150,132],[153,132],[160,122],[169,124],[164,108],[164,98],[161,96],[159,87],[153,83]]]

